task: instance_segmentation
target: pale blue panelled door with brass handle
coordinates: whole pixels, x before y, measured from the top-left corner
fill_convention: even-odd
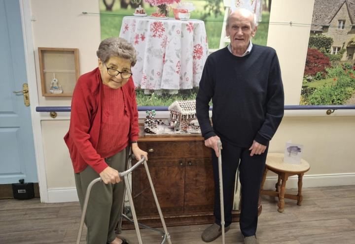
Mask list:
[[[0,0],[0,74],[0,184],[38,182],[18,0]]]

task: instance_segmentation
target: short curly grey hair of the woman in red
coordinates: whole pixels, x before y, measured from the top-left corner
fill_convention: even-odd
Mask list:
[[[96,55],[98,58],[107,62],[109,58],[116,56],[131,61],[132,67],[137,62],[136,50],[128,41],[121,37],[110,37],[100,43]]]

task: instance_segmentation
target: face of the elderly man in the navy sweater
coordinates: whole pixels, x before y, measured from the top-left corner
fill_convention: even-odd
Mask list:
[[[256,33],[256,27],[252,27],[253,15],[234,12],[229,19],[229,25],[226,27],[226,34],[230,36],[233,49],[245,49],[249,46],[251,37]]]

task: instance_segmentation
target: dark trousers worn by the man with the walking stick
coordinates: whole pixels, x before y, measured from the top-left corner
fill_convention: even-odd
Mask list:
[[[254,154],[250,156],[249,148],[239,148],[223,140],[221,140],[221,142],[225,227],[232,222],[234,183],[239,164],[239,179],[241,182],[242,195],[239,224],[244,236],[253,236],[255,235],[257,227],[260,185],[269,147],[260,155]],[[214,217],[215,223],[220,225],[218,158],[214,150],[212,150],[212,163],[214,178]]]

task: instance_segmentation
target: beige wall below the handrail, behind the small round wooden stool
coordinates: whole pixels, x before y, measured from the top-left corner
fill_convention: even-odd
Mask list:
[[[269,152],[284,152],[285,142],[304,145],[307,175],[355,173],[355,117],[284,117]]]

